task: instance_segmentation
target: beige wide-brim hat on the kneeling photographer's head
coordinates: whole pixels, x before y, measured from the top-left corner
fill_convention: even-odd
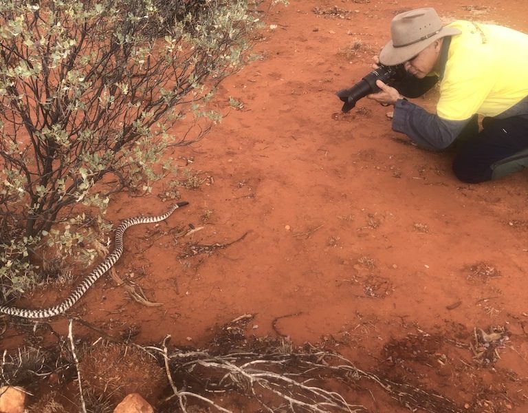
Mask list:
[[[419,8],[398,14],[391,21],[391,41],[380,53],[380,62],[399,65],[416,56],[441,37],[460,34],[460,30],[443,27],[433,8]]]

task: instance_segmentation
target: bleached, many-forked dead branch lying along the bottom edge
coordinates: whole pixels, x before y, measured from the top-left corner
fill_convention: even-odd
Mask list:
[[[368,412],[366,407],[347,401],[342,394],[328,390],[336,382],[348,388],[363,388],[369,383],[377,385],[410,411],[430,413],[459,413],[450,399],[437,392],[395,383],[376,374],[356,368],[351,361],[335,352],[316,346],[292,349],[291,343],[278,340],[270,343],[265,354],[239,351],[212,356],[206,351],[169,352],[166,337],[162,348],[154,346],[144,350],[161,355],[173,394],[165,403],[177,399],[182,412],[187,412],[190,400],[206,402],[220,412],[231,412],[220,405],[217,397],[232,393],[244,394],[257,401],[263,411],[275,412],[282,407],[288,412]],[[289,349],[288,351],[284,351]],[[179,378],[179,385],[173,380]],[[192,383],[192,384],[190,384]],[[333,383],[333,384],[332,384]],[[365,388],[363,388],[365,389]],[[220,399],[221,400],[221,399]]]

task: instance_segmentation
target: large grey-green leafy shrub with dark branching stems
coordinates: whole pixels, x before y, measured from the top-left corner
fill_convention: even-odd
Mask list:
[[[31,285],[31,258],[42,257],[45,246],[72,255],[94,237],[80,204],[104,213],[112,193],[149,191],[170,168],[159,166],[164,150],[200,139],[219,120],[204,105],[243,65],[255,6],[0,3],[4,298]]]

